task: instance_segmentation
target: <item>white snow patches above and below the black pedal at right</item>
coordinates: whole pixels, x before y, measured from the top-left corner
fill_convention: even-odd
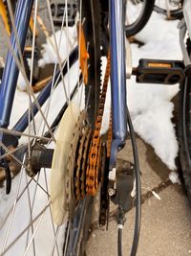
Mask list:
[[[136,36],[145,45],[140,48],[132,45],[133,64],[137,65],[139,58],[181,59],[177,25],[178,21],[166,21],[153,12],[147,26]],[[179,85],[138,84],[134,78],[127,84],[128,105],[136,132],[153,146],[169,169],[175,170],[179,147],[171,100],[179,92]]]

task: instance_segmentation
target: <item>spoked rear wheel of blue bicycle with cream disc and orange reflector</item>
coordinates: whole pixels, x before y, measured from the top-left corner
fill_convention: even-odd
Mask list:
[[[12,137],[20,138],[16,148],[10,147],[8,149],[7,142],[1,142],[1,151],[4,151],[1,154],[1,167],[3,168],[3,162],[9,166],[12,164],[14,169],[17,166],[17,170],[14,170],[14,174],[12,173],[14,177],[11,180],[11,195],[4,195],[5,184],[1,189],[3,195],[1,209],[4,209],[0,214],[1,255],[63,255],[64,253],[65,255],[82,255],[85,251],[91,223],[93,198],[85,196],[83,199],[76,199],[75,173],[77,169],[75,161],[83,153],[83,161],[86,164],[91,143],[91,128],[94,128],[98,107],[100,91],[99,4],[93,0],[78,1],[78,26],[75,24],[71,28],[67,21],[70,14],[66,8],[65,12],[62,13],[63,22],[60,32],[55,32],[53,26],[50,1],[47,0],[46,5],[46,13],[50,20],[49,26],[53,35],[47,37],[47,47],[50,51],[46,55],[44,54],[41,63],[45,65],[52,59],[55,62],[53,78],[50,81],[52,84],[50,97],[42,107],[32,92],[32,65],[35,45],[35,36],[33,36],[30,81],[28,81],[24,71],[25,65],[22,62],[22,56],[16,57],[19,71],[24,77],[29,94],[23,95],[16,92],[15,97],[22,101],[25,108],[29,106],[31,109],[30,111],[27,110],[28,120],[32,120],[31,125],[26,128],[25,132],[18,131],[16,133],[15,128],[18,128],[18,123],[13,126],[16,119],[15,115],[20,115],[24,107],[20,107],[18,111],[18,103],[15,102],[11,114],[13,117],[11,126],[1,129],[2,132],[3,130],[9,132]],[[37,11],[38,1],[34,5],[34,24],[37,23]],[[48,22],[48,19],[45,19],[45,22]],[[11,16],[11,20],[14,22],[13,16]],[[76,29],[77,27],[79,29]],[[79,39],[77,39],[77,34]],[[84,38],[82,38],[83,34]],[[83,63],[80,60],[82,44],[88,56]],[[78,58],[76,58],[76,48],[80,49]],[[63,53],[60,49],[66,49],[66,51]],[[10,52],[13,55],[11,50]],[[71,52],[72,55],[70,55]],[[83,69],[82,66],[85,68]],[[86,76],[88,80],[85,82]],[[2,81],[4,81],[4,76]],[[32,100],[34,104],[32,104]],[[33,105],[39,110],[35,117],[32,110]],[[13,129],[11,129],[12,127]],[[27,139],[25,140],[24,137]],[[64,145],[62,144],[63,137],[65,137]],[[64,163],[59,158],[60,144],[63,150],[62,154],[65,157]],[[80,150],[80,145],[86,149],[82,147],[83,149]],[[36,150],[46,152],[45,158],[47,160],[52,156],[50,156],[51,154],[48,155],[46,150],[53,151],[55,165],[61,163],[68,168],[67,174],[65,170],[60,168],[59,172],[65,172],[64,177],[68,182],[71,182],[70,186],[64,179],[56,179],[58,174],[54,172],[56,171],[55,166],[53,166],[52,171],[38,167],[38,170],[36,169],[34,172],[32,153]],[[11,156],[9,161],[8,155]],[[52,187],[55,182],[57,182],[57,188],[56,186]],[[65,197],[64,204],[53,209],[53,195],[56,195],[55,190],[62,186],[66,189],[62,194],[62,197]],[[70,198],[70,201],[67,197]],[[57,219],[57,212],[58,216],[61,216],[61,221]]]

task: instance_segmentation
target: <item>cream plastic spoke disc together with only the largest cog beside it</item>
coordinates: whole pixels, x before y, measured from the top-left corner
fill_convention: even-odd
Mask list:
[[[88,127],[87,113],[70,104],[60,122],[56,145],[53,152],[51,175],[51,198],[53,221],[61,225],[73,216],[77,205],[74,196],[74,169],[77,162],[78,147],[84,128]]]

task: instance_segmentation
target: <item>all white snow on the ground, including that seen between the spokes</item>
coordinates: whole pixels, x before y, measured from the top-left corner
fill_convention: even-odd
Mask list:
[[[157,13],[153,13],[152,17],[146,26],[146,28],[137,35],[137,38],[145,43],[144,46],[138,48],[138,45],[132,44],[132,53],[133,53],[133,64],[134,66],[138,65],[139,58],[172,58],[172,59],[181,59],[180,54],[180,46],[179,46],[179,33],[177,30],[178,21],[166,21],[164,20],[163,16],[160,16]],[[58,39],[60,36],[60,32],[56,33],[56,38]],[[62,35],[62,44],[60,46],[62,57],[67,57],[67,53],[63,52],[66,45],[65,35]],[[72,30],[70,33],[70,40],[76,38],[74,31]],[[58,39],[59,40],[59,39]],[[55,62],[57,58],[54,55],[55,49],[53,47],[53,36],[47,40],[47,44],[44,45],[43,51],[43,59],[39,61],[40,66],[44,66],[46,63]],[[74,73],[75,72],[75,73]],[[72,71],[70,76],[65,79],[65,83],[67,84],[67,91],[70,90],[70,84],[76,81],[77,74],[76,71]],[[24,87],[24,82],[20,82],[20,87]],[[149,143],[155,149],[156,153],[159,155],[160,159],[171,169],[175,170],[175,157],[178,154],[178,142],[175,134],[175,127],[172,124],[172,117],[173,117],[173,109],[174,105],[172,104],[171,100],[173,97],[178,93],[179,85],[174,86],[164,86],[159,84],[138,84],[135,81],[135,78],[127,81],[127,92],[128,92],[128,106],[130,109],[130,113],[132,116],[134,128],[138,135],[143,138],[147,143]],[[59,109],[59,103],[63,101],[65,95],[63,93],[62,84],[60,83],[59,86],[56,88],[55,91],[56,98],[52,100],[52,107],[53,107],[53,115],[49,116],[49,119],[53,120],[53,116],[57,109]],[[56,103],[56,104],[55,104]],[[18,118],[21,112],[23,112],[29,105],[29,98],[26,97],[24,92],[17,90],[15,95],[15,101],[13,105],[13,112],[12,117],[14,119]],[[109,93],[107,95],[107,107],[104,112],[104,123],[102,132],[108,128],[108,119],[110,114],[110,88]],[[56,109],[55,109],[56,108]],[[43,108],[44,111],[46,110],[46,106]],[[38,120],[38,117],[36,117]],[[11,121],[11,125],[13,121]],[[41,122],[39,122],[40,130]],[[47,180],[49,182],[49,172],[47,172]],[[176,173],[171,173],[169,176],[171,180],[177,180],[175,175]],[[0,224],[2,221],[2,217],[5,218],[6,213],[8,213],[10,206],[14,202],[14,196],[17,190],[17,181],[19,177],[13,179],[12,182],[12,191],[11,196],[5,196],[4,189],[0,189],[0,200],[1,200],[1,208],[0,208]],[[173,182],[173,181],[172,181]],[[46,185],[46,179],[44,175],[41,175],[39,178],[39,183],[42,187]],[[26,184],[25,176],[22,178],[22,188]],[[30,194],[32,194],[34,190],[35,183],[32,182]],[[41,205],[45,205],[47,198],[45,194],[38,191],[39,193],[36,196],[36,207],[35,211],[33,212],[33,216],[39,212],[39,207]],[[156,195],[155,195],[156,196]],[[33,197],[33,196],[32,196]],[[158,198],[158,197],[157,197]],[[22,228],[28,223],[28,219],[26,217],[20,218],[23,216],[23,209],[26,208],[26,202],[28,201],[27,195],[22,198],[19,202],[19,207],[15,212],[13,223],[17,226],[18,230],[22,230]],[[29,206],[29,205],[27,205]],[[28,215],[29,217],[29,215]],[[53,241],[53,226],[49,223],[50,216],[49,213],[46,212],[45,218],[43,219],[42,223],[40,223],[40,230],[41,234],[38,238],[40,243],[37,243],[39,247],[39,251],[44,250],[47,244],[51,244]],[[21,223],[22,222],[22,223]],[[35,225],[34,225],[35,226]],[[51,231],[50,231],[51,230]],[[60,231],[60,236],[63,236],[62,228]],[[44,240],[44,235],[46,234],[46,244],[42,241]],[[14,237],[14,232],[11,231],[11,238]],[[0,233],[0,247],[2,247],[3,237],[5,237],[4,230],[1,230]],[[11,241],[9,238],[9,242]],[[25,243],[26,236],[21,240],[21,244]],[[47,243],[48,242],[48,243]],[[52,244],[53,245],[53,244]],[[20,244],[18,244],[20,246]],[[51,245],[50,245],[51,246]],[[59,246],[61,247],[61,246]],[[32,253],[32,251],[30,252]],[[11,251],[7,255],[13,255],[14,253]],[[29,254],[31,255],[31,254]],[[38,255],[45,255],[45,251],[41,251]],[[46,254],[48,255],[48,254]]]

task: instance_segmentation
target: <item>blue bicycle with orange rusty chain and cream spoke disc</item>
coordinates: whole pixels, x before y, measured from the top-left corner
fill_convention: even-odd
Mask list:
[[[57,41],[53,10],[49,0],[46,1],[56,61],[53,79],[37,97],[32,92],[31,85],[38,1],[19,0],[15,18],[10,0],[7,2],[12,31],[0,88],[0,160],[1,170],[6,178],[6,192],[13,192],[14,195],[3,196],[11,200],[12,206],[9,210],[5,209],[5,218],[1,222],[1,255],[84,255],[92,221],[93,202],[98,189],[100,225],[107,225],[109,201],[113,200],[118,205],[118,255],[121,255],[124,214],[131,208],[131,200],[136,198],[135,235],[131,250],[131,255],[136,255],[140,222],[140,179],[138,152],[126,106],[122,1],[110,0],[110,8],[108,2],[101,2],[106,15],[100,12],[98,1],[77,1],[79,18],[72,42],[68,40],[69,17],[74,17],[69,10],[72,8],[70,4],[74,3],[66,1],[61,15],[61,34],[65,31],[67,38],[64,56],[59,53],[61,35]],[[28,80],[22,54],[33,4],[32,64]],[[103,16],[104,20],[101,19]],[[107,17],[109,31],[106,30],[107,26],[103,26]],[[110,48],[107,49],[108,37]],[[108,60],[101,89],[102,54],[107,55]],[[74,67],[77,70],[71,78]],[[12,124],[11,110],[19,72],[27,84],[29,107]],[[110,73],[112,127],[110,125],[106,142],[102,141],[100,128]],[[58,90],[59,87],[62,90]],[[83,98],[85,104],[82,103]],[[123,148],[129,133],[136,158],[135,173],[120,173],[117,172],[117,151]],[[27,138],[26,142],[22,142],[23,137]],[[52,168],[51,177],[51,171],[45,168]],[[12,178],[12,175],[15,176]],[[49,177],[51,185],[48,184]],[[134,183],[137,194],[132,198]],[[129,196],[128,200],[126,194]],[[46,228],[48,224],[50,228]],[[45,239],[42,238],[44,236]]]

